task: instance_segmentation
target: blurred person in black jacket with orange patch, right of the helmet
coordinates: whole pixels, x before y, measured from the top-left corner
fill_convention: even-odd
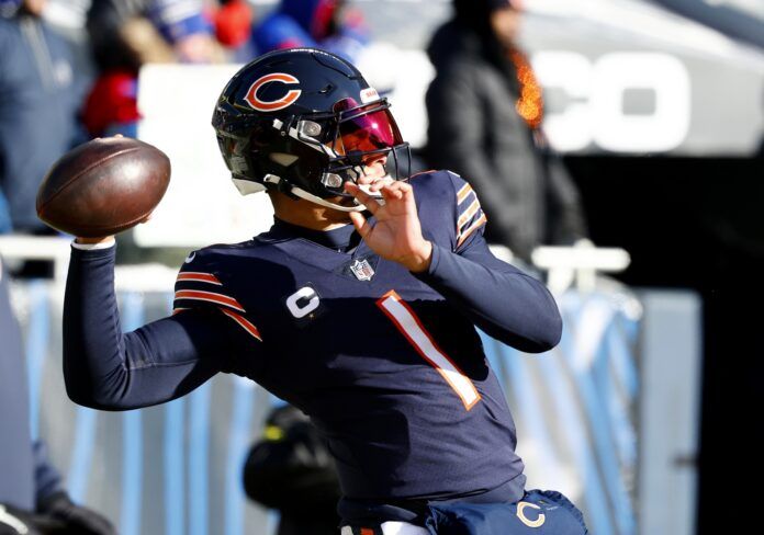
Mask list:
[[[518,0],[453,0],[427,49],[426,158],[468,178],[491,225],[485,237],[528,260],[539,244],[586,235],[578,193],[541,132],[541,88],[516,44]]]

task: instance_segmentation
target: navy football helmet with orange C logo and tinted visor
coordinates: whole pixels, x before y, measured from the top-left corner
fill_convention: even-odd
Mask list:
[[[344,196],[364,163],[386,157],[395,180],[409,173],[408,144],[386,99],[346,60],[314,48],[266,54],[223,90],[212,125],[243,194],[278,189],[341,210],[363,209]]]

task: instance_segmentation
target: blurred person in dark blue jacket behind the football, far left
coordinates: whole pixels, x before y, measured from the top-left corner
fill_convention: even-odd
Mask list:
[[[47,231],[37,186],[78,132],[71,50],[41,18],[45,3],[0,0],[0,231]]]

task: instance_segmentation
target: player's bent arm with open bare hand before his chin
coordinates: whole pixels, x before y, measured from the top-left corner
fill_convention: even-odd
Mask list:
[[[491,253],[482,237],[485,218],[474,192],[458,177],[450,178],[458,179],[460,186],[452,203],[456,225],[445,223],[457,230],[452,247],[423,237],[411,184],[384,186],[384,204],[349,184],[348,192],[377,219],[371,224],[361,214],[352,214],[352,221],[374,252],[407,268],[492,337],[530,353],[552,349],[562,333],[554,299],[539,281]]]

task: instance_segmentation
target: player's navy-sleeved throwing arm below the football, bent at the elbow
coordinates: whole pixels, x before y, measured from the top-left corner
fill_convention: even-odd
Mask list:
[[[189,310],[123,333],[113,242],[78,247],[64,303],[64,378],[75,402],[106,410],[147,407],[180,397],[226,367],[231,326],[221,314]]]

